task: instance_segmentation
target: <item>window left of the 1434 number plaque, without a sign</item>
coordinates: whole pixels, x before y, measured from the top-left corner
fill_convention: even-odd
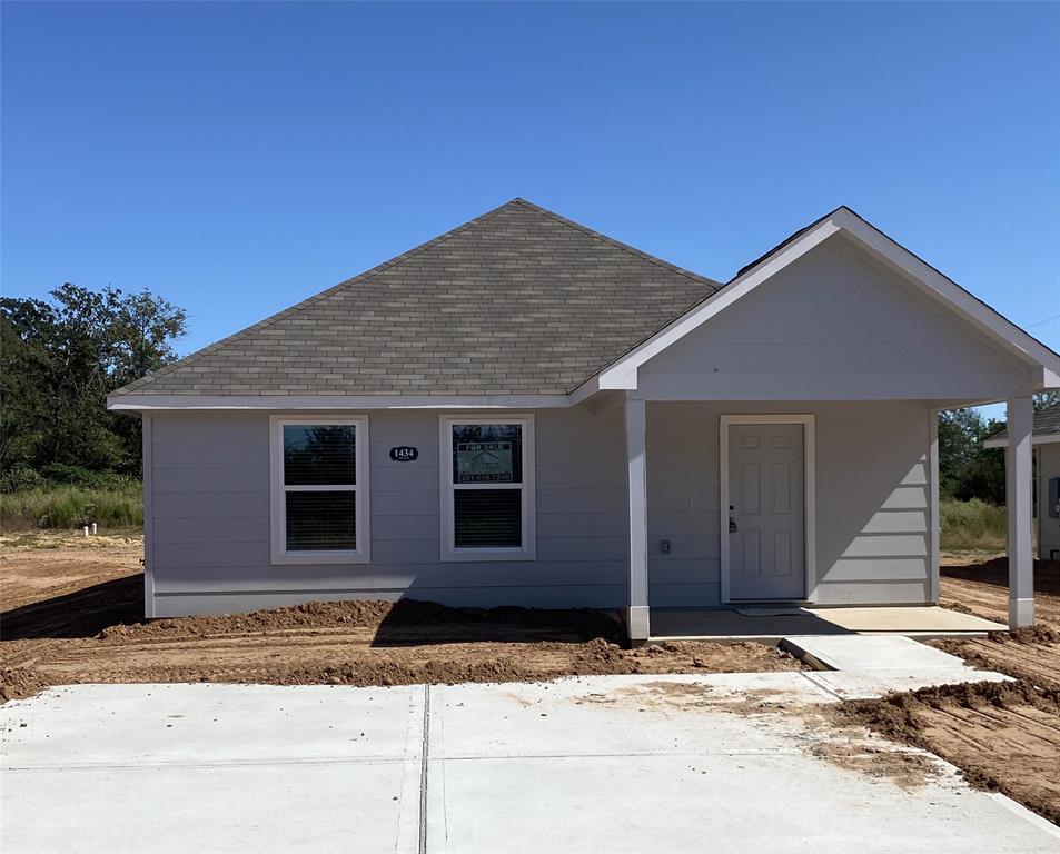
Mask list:
[[[274,564],[368,560],[368,421],[270,420]]]

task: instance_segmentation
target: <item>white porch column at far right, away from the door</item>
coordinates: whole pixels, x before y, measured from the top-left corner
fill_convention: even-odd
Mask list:
[[[1030,397],[1008,400],[1009,444],[1004,449],[1004,496],[1009,526],[1009,628],[1034,625],[1034,558],[1031,554]]]

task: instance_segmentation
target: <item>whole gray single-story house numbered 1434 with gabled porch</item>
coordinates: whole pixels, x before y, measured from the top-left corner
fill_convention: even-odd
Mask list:
[[[940,409],[1060,357],[848,208],[724,286],[521,199],[109,398],[143,419],[146,612],[938,597]],[[1026,451],[1026,453],[1024,453]]]

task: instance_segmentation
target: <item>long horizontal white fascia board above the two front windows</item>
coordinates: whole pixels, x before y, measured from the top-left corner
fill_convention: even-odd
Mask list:
[[[245,409],[321,411],[340,409],[562,409],[600,390],[594,377],[569,395],[121,395],[107,398],[112,411]]]

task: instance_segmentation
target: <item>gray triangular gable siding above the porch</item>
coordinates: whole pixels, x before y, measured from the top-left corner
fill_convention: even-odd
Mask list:
[[[1028,369],[833,237],[640,368],[650,400],[990,399]]]

